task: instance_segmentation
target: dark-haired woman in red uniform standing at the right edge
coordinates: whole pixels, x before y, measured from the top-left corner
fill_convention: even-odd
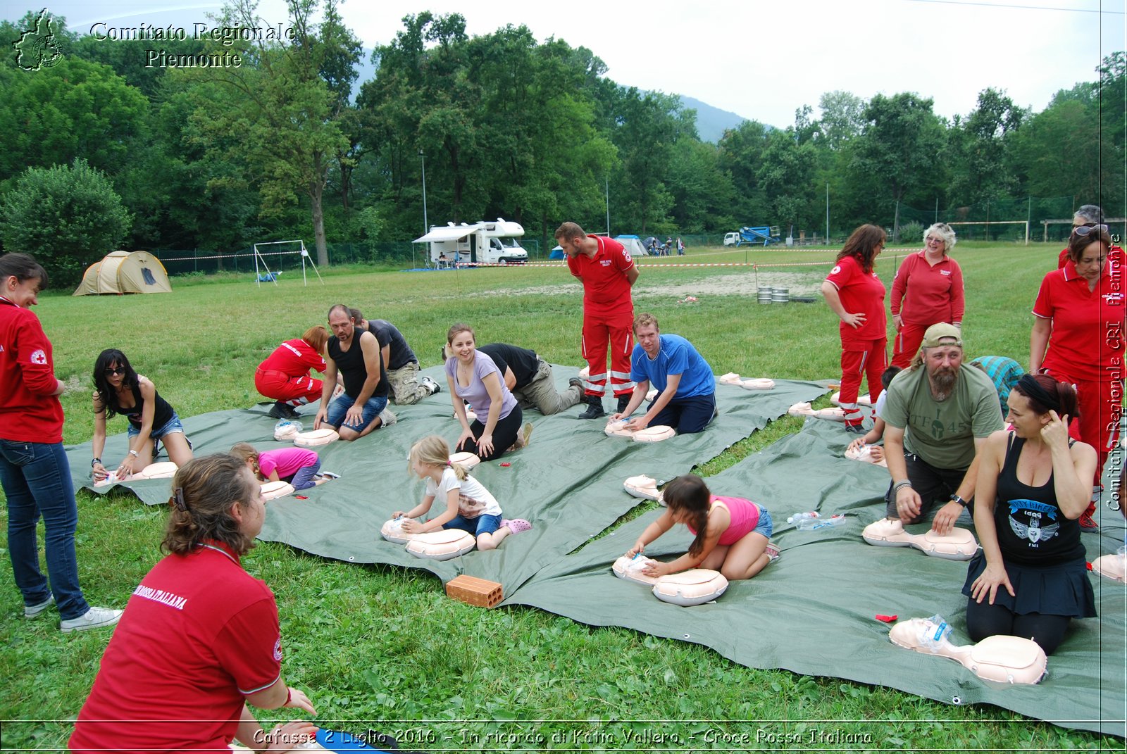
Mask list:
[[[1073,230],[1068,261],[1041,281],[1029,336],[1029,371],[1046,370],[1076,385],[1080,440],[1099,453],[1093,502],[1080,517],[1088,530],[1095,529],[1100,473],[1122,414],[1124,269],[1110,249],[1107,225]]]

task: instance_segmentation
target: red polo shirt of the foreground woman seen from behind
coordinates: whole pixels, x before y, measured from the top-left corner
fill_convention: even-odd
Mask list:
[[[277,683],[274,593],[208,542],[170,555],[133,591],[79,712],[70,749],[222,749],[246,694]]]

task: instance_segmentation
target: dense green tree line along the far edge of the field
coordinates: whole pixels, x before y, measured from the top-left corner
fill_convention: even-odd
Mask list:
[[[824,234],[827,194],[832,234],[898,229],[902,207],[978,219],[973,207],[1027,196],[1067,197],[1047,215],[1088,203],[1124,214],[1124,52],[1039,113],[996,89],[950,121],[916,92],[831,91],[818,117],[806,105],[784,128],[746,121],[713,144],[678,96],[615,83],[595,52],[524,26],[470,36],[459,14],[407,16],[358,81],[363,47],[337,0],[290,0],[289,15],[282,42],[107,41],[55,18],[62,54],[33,71],[5,47],[5,250],[68,280],[114,248],[278,238],[312,239],[327,264],[329,241],[421,234],[424,165],[431,224],[505,218],[545,240],[565,219],[605,231],[607,204],[614,233]],[[0,23],[0,38],[36,17]],[[263,26],[251,0],[216,23]],[[152,65],[157,47],[161,61],[240,64]]]

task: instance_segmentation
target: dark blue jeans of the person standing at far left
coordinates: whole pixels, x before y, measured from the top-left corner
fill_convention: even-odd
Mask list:
[[[0,440],[0,485],[8,497],[8,555],[24,604],[37,605],[54,594],[63,620],[85,615],[90,606],[78,585],[74,553],[78,503],[63,444]],[[41,515],[50,591],[35,538]]]

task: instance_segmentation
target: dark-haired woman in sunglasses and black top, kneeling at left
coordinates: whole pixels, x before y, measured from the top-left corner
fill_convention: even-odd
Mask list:
[[[167,400],[157,393],[149,378],[137,374],[130,360],[117,348],[106,348],[94,364],[94,469],[95,480],[109,476],[101,462],[106,446],[106,419],[122,414],[128,419],[128,452],[115,468],[124,480],[149,465],[157,458],[156,444],[165,443],[168,460],[184,465],[192,460],[192,443],[184,425]]]

